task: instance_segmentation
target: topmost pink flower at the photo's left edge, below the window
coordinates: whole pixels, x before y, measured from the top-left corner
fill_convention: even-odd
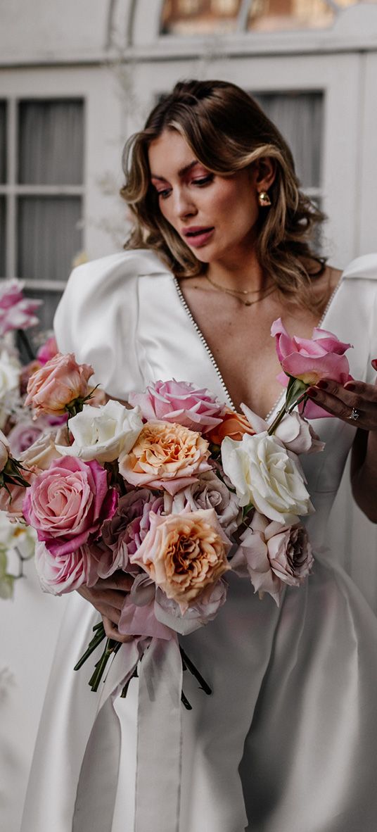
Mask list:
[[[0,336],[12,329],[28,329],[39,323],[34,312],[42,300],[24,298],[22,289],[22,281],[16,278],[0,281]]]

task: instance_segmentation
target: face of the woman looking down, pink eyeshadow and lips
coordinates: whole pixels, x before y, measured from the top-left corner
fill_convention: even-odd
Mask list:
[[[231,265],[254,248],[260,210],[256,170],[212,174],[173,130],[151,142],[149,164],[161,214],[198,260]]]

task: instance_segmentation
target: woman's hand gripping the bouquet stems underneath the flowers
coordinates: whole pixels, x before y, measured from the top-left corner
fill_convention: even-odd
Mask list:
[[[98,612],[101,612],[107,638],[115,641],[131,641],[134,636],[122,636],[118,632],[119,619],[127,592],[130,592],[132,578],[124,572],[114,572],[112,577],[99,578],[96,585],[80,587],[77,592],[86,598]]]

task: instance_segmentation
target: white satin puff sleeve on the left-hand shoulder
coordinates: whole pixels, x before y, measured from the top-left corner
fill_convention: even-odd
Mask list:
[[[127,251],[78,266],[54,319],[60,351],[92,364],[95,384],[117,399],[143,384],[137,361],[140,260]]]

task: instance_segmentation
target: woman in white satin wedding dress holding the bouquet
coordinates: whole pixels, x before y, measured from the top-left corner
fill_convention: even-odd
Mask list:
[[[287,587],[280,609],[231,576],[216,620],[184,637],[213,695],[185,677],[193,707],[181,709],[176,744],[168,685],[154,722],[149,703],[146,734],[136,679],[126,699],[114,681],[99,706],[85,671],[72,672],[98,613],[108,636],[126,639],[117,623],[128,578],[72,594],[22,832],[372,832],[377,622],[325,543],[351,447],[355,500],[377,522],[377,257],[340,274],[316,253],[324,217],[301,193],[279,131],[231,83],[178,83],[131,137],[124,164],[126,251],[74,270],[55,322],[62,352],[92,364],[110,397],[184,379],[270,422],[281,403],[270,337],[280,317],[290,334],[310,338],[320,325],[354,344],[360,380],[310,388],[335,417],[316,421],[325,451],[305,457],[313,574]]]

